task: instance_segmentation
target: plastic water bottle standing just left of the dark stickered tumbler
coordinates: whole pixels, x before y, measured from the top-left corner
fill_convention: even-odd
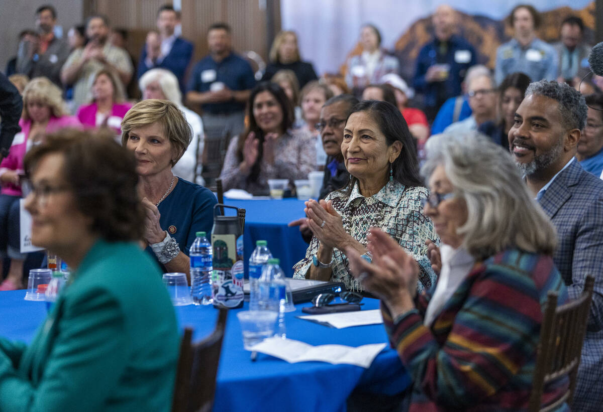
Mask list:
[[[189,251],[191,258],[191,296],[195,305],[211,305],[212,300],[212,245],[205,232],[195,233],[195,242]]]

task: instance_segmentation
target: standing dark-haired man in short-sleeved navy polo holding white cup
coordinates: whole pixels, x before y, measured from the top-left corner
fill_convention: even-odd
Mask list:
[[[247,61],[232,52],[230,27],[214,23],[207,30],[209,55],[192,70],[186,99],[203,108],[206,139],[243,131],[245,102],[256,85]],[[226,133],[224,133],[226,131]]]

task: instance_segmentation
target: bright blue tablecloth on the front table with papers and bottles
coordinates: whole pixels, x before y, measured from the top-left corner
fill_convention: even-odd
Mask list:
[[[0,292],[0,336],[30,342],[46,316],[44,302],[24,301],[25,291]],[[363,310],[378,307],[378,301],[364,299]],[[247,305],[247,304],[245,304]],[[307,305],[307,304],[306,304]],[[181,327],[194,327],[194,339],[202,339],[214,326],[213,307],[177,307]],[[286,315],[287,336],[311,345],[339,343],[349,346],[387,342],[383,325],[332,329],[297,319],[301,308]],[[289,364],[260,354],[251,362],[243,349],[236,310],[227,320],[226,335],[218,370],[214,411],[345,411],[346,398],[355,387],[366,392],[393,395],[408,384],[408,375],[393,349],[382,351],[369,369],[323,362]]]

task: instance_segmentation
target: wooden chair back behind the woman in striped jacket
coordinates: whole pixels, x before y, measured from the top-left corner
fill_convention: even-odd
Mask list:
[[[560,307],[557,307],[557,293],[548,293],[529,400],[531,412],[555,410],[563,402],[572,404],[594,283],[595,278],[587,276],[582,295]],[[543,408],[541,399],[546,385],[566,374],[569,376],[567,391],[554,404]]]

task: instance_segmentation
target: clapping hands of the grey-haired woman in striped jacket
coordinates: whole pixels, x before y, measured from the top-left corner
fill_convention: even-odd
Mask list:
[[[367,240],[372,263],[354,249],[346,249],[352,276],[362,287],[383,299],[390,310],[400,306],[403,311],[408,310],[413,306],[412,298],[417,291],[417,262],[379,228],[371,228]]]

